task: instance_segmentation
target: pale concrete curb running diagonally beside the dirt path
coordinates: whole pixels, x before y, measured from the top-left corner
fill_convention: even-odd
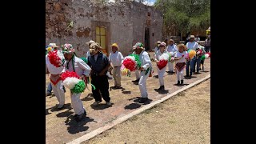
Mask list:
[[[207,75],[205,78],[199,79],[198,81],[191,83],[188,86],[184,86],[180,90],[174,91],[174,93],[172,93],[172,94],[166,95],[166,97],[163,97],[163,98],[161,98],[161,99],[159,99],[159,100],[157,100],[155,102],[152,102],[152,103],[150,103],[150,104],[148,104],[146,106],[143,106],[142,108],[139,108],[138,110],[134,110],[130,114],[126,114],[122,118],[118,118],[118,119],[114,120],[113,122],[110,122],[110,123],[106,124],[106,126],[102,126],[102,127],[98,128],[96,130],[91,131],[88,134],[83,135],[80,138],[74,139],[73,141],[68,142],[67,144],[78,144],[78,143],[84,142],[86,140],[89,140],[90,138],[94,138],[96,135],[102,134],[102,132],[111,129],[112,127],[118,125],[119,123],[125,122],[127,119],[133,117],[134,115],[140,114],[144,110],[148,110],[148,109],[152,108],[153,106],[155,106],[155,105],[157,105],[157,104],[159,104],[161,102],[165,102],[170,97],[172,97],[172,96],[174,96],[174,95],[176,95],[176,94],[178,94],[178,93],[180,93],[180,92],[182,92],[184,90],[187,90],[187,89],[189,89],[189,88],[191,88],[193,86],[197,86],[199,83],[204,82],[204,81],[206,81],[209,78],[210,78],[210,74]]]

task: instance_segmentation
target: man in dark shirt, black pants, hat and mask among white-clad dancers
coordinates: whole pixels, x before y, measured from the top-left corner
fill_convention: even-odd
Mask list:
[[[98,106],[98,103],[102,102],[102,98],[106,101],[107,106],[111,106],[109,82],[106,72],[110,67],[109,59],[106,54],[100,52],[102,47],[97,42],[90,45],[90,56],[88,57],[88,65],[91,67],[91,84],[95,86],[95,90],[92,88],[95,102],[94,106]],[[101,94],[102,97],[101,97]]]

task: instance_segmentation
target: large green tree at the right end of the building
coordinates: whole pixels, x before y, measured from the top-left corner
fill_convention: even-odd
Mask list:
[[[157,0],[154,5],[164,14],[164,30],[189,34],[210,26],[210,0]]]

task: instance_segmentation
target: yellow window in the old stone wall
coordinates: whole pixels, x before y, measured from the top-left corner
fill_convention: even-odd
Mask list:
[[[107,54],[106,50],[106,27],[96,26],[96,42],[102,46],[103,52]]]

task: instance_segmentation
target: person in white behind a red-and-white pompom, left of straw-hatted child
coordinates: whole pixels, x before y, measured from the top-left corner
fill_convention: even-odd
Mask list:
[[[156,53],[154,54],[154,58],[155,58],[154,60],[157,63],[160,61],[159,58],[162,54],[168,53],[167,50],[166,50],[166,43],[165,42],[161,42],[159,47],[160,47],[159,50],[156,51]],[[157,69],[158,69],[158,79],[159,79],[159,83],[160,83],[160,87],[158,88],[158,90],[165,90],[163,75],[166,72],[166,66],[164,68],[162,68],[162,70],[159,70],[158,67],[157,67]]]

